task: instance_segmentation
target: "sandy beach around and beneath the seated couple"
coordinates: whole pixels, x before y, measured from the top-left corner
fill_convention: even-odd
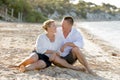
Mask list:
[[[8,68],[30,55],[43,33],[40,25],[0,22],[0,80],[120,80],[120,50],[84,28],[78,28],[85,42],[82,52],[97,76],[57,66],[25,73]]]

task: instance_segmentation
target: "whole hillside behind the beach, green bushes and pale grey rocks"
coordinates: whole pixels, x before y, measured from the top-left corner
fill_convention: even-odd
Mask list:
[[[79,20],[120,20],[120,8],[81,0],[78,4],[69,0],[1,0],[0,7],[14,9],[16,18],[19,12],[22,13],[23,22],[43,22],[48,18],[59,20],[66,15]]]

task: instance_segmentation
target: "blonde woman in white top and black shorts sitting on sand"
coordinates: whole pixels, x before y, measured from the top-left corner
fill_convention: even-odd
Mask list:
[[[21,72],[49,67],[51,65],[49,57],[51,54],[57,53],[60,48],[59,38],[55,36],[55,21],[47,20],[42,27],[47,33],[38,36],[35,51],[18,66],[13,66],[19,68]],[[52,58],[54,55],[52,55],[51,60]]]

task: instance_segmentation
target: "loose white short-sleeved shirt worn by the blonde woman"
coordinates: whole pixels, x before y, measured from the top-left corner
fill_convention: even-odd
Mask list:
[[[46,36],[46,34],[39,35],[36,40],[36,51],[40,54],[44,54],[47,50],[54,50],[58,51],[60,48],[60,40],[59,36],[55,36],[55,41],[50,42],[49,38]],[[45,54],[48,57],[50,54]]]

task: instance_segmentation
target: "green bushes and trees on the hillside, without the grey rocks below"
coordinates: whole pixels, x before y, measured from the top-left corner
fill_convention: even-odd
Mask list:
[[[0,7],[13,8],[14,17],[18,17],[18,13],[22,12],[23,21],[26,22],[43,22],[49,17],[48,15],[54,14],[55,11],[61,17],[67,13],[75,12],[83,19],[86,19],[87,12],[105,12],[112,15],[120,13],[120,9],[114,5],[105,3],[96,5],[83,0],[80,0],[78,4],[72,4],[69,0],[0,0]]]

